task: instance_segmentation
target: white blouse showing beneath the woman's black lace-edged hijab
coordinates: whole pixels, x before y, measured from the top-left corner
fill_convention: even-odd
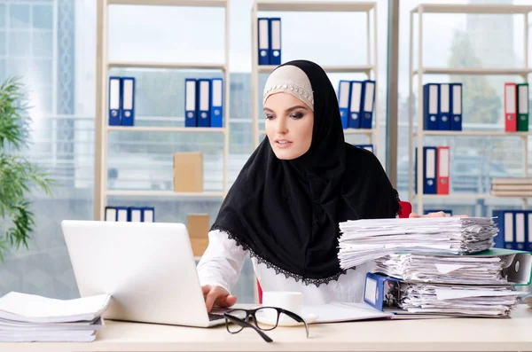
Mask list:
[[[208,246],[197,266],[201,286],[221,286],[231,293],[233,286],[239,279],[240,270],[246,259],[248,251],[237,245],[223,231],[210,231],[208,233]],[[266,264],[257,262],[252,257],[254,273],[258,278],[262,291],[297,291],[303,293],[305,304],[321,304],[331,301],[360,302],[364,294],[365,275],[373,269],[373,262],[358,265],[355,270],[348,270],[340,275],[338,280],[330,281],[319,287],[306,286],[296,282],[294,278],[282,273],[277,274],[275,269],[268,268]]]

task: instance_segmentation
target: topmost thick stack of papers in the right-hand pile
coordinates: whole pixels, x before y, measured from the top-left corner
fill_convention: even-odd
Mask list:
[[[364,219],[340,223],[340,268],[398,252],[470,254],[489,249],[497,224],[487,217]]]

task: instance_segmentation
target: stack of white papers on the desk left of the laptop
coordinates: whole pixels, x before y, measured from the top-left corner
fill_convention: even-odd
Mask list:
[[[109,300],[108,294],[63,301],[7,293],[0,297],[0,342],[95,340]]]

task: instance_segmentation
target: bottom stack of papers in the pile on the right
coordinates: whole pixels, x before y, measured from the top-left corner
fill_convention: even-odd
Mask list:
[[[398,306],[410,313],[509,317],[518,295],[512,286],[458,286],[402,282]]]

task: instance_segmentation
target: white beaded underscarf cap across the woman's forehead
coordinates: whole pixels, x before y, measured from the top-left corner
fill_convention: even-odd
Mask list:
[[[262,105],[270,95],[275,93],[289,93],[300,99],[314,111],[314,94],[309,77],[301,68],[292,65],[279,66],[270,74],[262,97]]]

